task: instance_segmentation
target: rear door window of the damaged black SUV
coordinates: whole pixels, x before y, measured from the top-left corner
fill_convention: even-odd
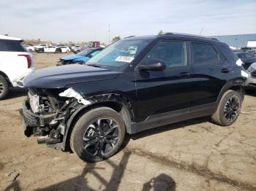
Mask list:
[[[194,64],[219,63],[219,56],[210,44],[192,42]]]

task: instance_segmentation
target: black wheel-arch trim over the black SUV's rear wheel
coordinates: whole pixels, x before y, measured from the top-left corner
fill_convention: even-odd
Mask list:
[[[244,77],[236,77],[234,79],[230,79],[229,81],[227,81],[225,83],[225,85],[222,87],[222,90],[219,93],[218,99],[217,99],[217,104],[219,104],[219,101],[222,98],[222,95],[229,90],[232,87],[239,87],[241,88],[242,92],[241,92],[241,96],[244,99],[244,85],[245,85],[245,79]]]

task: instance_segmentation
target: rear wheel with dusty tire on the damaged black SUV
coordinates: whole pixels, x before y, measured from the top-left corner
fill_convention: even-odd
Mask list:
[[[236,122],[241,112],[241,95],[234,90],[227,90],[219,101],[217,111],[211,116],[217,125],[228,126]]]

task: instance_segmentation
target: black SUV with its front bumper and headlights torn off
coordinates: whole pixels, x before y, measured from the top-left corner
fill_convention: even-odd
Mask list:
[[[217,39],[129,36],[86,65],[26,77],[25,134],[97,162],[113,155],[126,133],[203,116],[231,125],[244,98],[246,73],[238,62]]]

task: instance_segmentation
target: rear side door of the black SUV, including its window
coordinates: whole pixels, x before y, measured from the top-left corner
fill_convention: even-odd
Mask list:
[[[190,42],[193,101],[191,106],[209,106],[217,101],[231,72],[213,44]]]

